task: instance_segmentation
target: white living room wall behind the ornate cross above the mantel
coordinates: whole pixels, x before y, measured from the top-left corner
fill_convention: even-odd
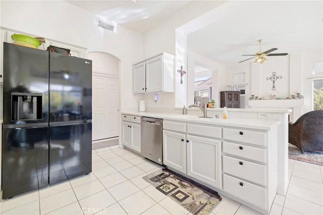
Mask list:
[[[305,98],[302,113],[312,111],[312,77],[313,63],[322,61],[321,51],[292,52],[288,56],[267,57],[264,64],[244,62],[227,70],[227,84],[232,84],[232,74],[246,72],[246,101],[251,94],[259,97],[290,97],[301,93]],[[276,90],[272,90],[272,81],[266,80],[276,72],[282,79],[276,81]],[[250,108],[246,102],[246,108]],[[296,119],[294,119],[296,120]]]

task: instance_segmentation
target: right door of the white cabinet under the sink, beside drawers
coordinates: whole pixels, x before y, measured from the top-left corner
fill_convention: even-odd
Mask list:
[[[187,135],[187,174],[221,188],[221,141]]]

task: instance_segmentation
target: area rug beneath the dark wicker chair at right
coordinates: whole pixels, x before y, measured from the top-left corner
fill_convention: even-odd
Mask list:
[[[302,154],[299,148],[290,143],[288,143],[288,158],[323,166],[323,152],[304,151]]]

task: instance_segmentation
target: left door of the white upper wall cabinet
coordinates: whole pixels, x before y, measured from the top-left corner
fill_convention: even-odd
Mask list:
[[[143,93],[146,89],[146,63],[133,66],[133,93]]]

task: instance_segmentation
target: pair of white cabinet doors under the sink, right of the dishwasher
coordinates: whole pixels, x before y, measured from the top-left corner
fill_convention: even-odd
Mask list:
[[[221,188],[221,141],[163,131],[164,164],[200,182]]]

